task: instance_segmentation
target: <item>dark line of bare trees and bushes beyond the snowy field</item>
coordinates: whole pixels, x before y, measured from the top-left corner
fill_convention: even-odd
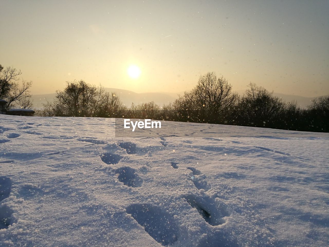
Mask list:
[[[318,97],[307,109],[284,102],[250,83],[243,96],[232,91],[224,77],[214,72],[200,76],[197,85],[172,104],[154,102],[127,107],[113,92],[84,81],[67,82],[47,102],[41,116],[136,118],[194,123],[231,124],[289,130],[329,132],[329,97]]]

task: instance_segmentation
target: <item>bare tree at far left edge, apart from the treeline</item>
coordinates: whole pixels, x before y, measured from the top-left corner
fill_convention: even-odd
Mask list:
[[[22,109],[32,109],[30,88],[32,81],[22,80],[19,83],[22,72],[12,67],[4,69],[0,65],[0,99],[7,101],[7,109],[18,105]]]

